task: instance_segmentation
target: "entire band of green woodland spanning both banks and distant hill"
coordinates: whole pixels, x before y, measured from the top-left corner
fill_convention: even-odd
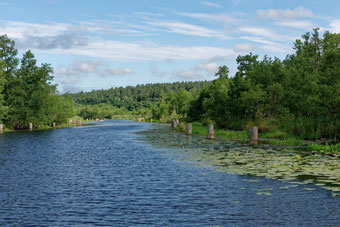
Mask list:
[[[252,53],[238,56],[238,71],[227,66],[216,80],[176,82],[57,94],[53,69],[37,66],[27,51],[17,57],[14,41],[0,36],[0,123],[25,129],[65,123],[75,114],[84,119],[139,115],[154,119],[180,118],[213,122],[241,130],[280,129],[301,138],[340,135],[340,34],[318,29],[296,40],[285,59]],[[72,100],[72,101],[71,101]],[[75,104],[74,104],[75,103]],[[76,112],[75,112],[76,111]]]

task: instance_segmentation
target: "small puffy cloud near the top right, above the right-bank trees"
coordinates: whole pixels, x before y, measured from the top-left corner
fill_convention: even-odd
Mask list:
[[[268,9],[268,10],[257,10],[257,15],[263,18],[269,18],[274,20],[285,20],[294,18],[308,18],[314,17],[314,13],[303,7],[297,7],[293,10],[291,9]]]

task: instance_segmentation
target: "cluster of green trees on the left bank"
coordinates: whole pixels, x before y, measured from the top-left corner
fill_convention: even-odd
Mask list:
[[[14,41],[0,36],[0,123],[9,129],[62,124],[74,116],[74,103],[57,94],[53,69],[37,66],[31,51],[17,58]]]

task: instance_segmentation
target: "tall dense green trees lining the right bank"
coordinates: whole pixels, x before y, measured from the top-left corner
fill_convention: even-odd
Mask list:
[[[237,57],[236,75],[230,79],[220,76],[191,103],[191,120],[212,119],[231,129],[272,120],[277,125],[270,127],[281,126],[287,134],[337,140],[340,34],[326,32],[320,38],[318,29],[314,29],[297,40],[294,49],[295,53],[284,61],[267,56],[259,60],[252,53]]]

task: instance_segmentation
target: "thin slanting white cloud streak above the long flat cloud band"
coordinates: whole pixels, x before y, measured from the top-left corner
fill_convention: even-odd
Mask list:
[[[147,22],[149,25],[163,28],[169,33],[176,33],[181,35],[192,35],[201,37],[215,37],[221,39],[228,39],[229,37],[220,31],[208,29],[202,26],[187,24],[183,22],[169,22],[169,21],[153,21]]]

